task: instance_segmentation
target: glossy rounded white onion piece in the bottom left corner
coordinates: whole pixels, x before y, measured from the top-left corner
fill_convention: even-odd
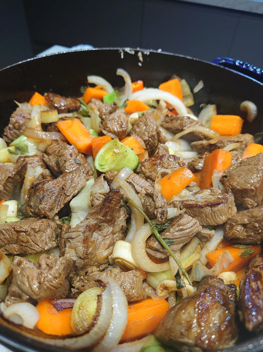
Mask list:
[[[40,317],[38,309],[29,302],[13,303],[8,307],[1,304],[1,310],[6,319],[30,329],[35,327]]]

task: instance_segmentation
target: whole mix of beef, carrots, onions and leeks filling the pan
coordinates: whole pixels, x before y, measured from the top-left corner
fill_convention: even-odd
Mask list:
[[[17,103],[0,150],[4,324],[93,351],[261,331],[263,147],[244,131],[258,106],[197,109],[205,82],[174,73],[152,88],[118,68],[118,88],[89,75],[76,98]]]

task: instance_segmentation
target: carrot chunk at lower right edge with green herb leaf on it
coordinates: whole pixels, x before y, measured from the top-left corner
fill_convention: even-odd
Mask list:
[[[248,264],[254,255],[261,252],[261,245],[247,246],[246,248],[236,248],[229,246],[224,247],[221,250],[212,251],[205,255],[209,264],[214,266],[218,261],[220,255],[226,250],[229,251],[229,253],[232,255],[234,261],[224,271],[238,272]],[[249,251],[251,251],[251,254],[249,254]]]

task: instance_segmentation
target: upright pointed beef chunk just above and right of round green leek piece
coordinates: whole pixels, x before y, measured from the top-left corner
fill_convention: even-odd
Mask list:
[[[149,156],[156,151],[159,143],[165,143],[166,138],[162,135],[159,126],[156,124],[150,112],[144,112],[142,117],[133,125],[130,135],[143,140]]]

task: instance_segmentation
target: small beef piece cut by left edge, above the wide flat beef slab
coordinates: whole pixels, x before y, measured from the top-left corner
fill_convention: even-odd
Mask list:
[[[26,170],[25,159],[18,158],[14,167],[0,163],[0,201],[9,200],[14,189],[21,185]]]

